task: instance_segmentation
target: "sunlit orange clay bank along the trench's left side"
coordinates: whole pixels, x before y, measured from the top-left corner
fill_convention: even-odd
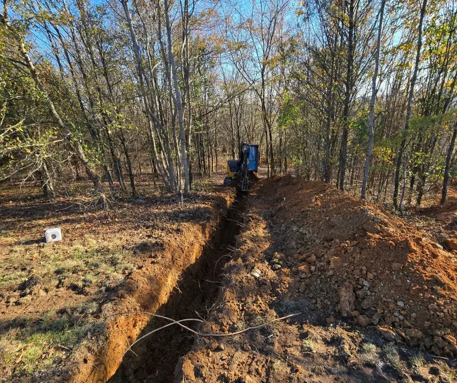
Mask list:
[[[221,193],[219,197],[202,217],[206,219],[181,222],[176,235],[162,233],[162,238],[156,238],[157,246],[144,249],[137,262],[140,269],[125,280],[102,316],[132,311],[155,313],[167,302],[182,272],[202,254],[234,194]],[[103,334],[95,342],[83,345],[69,363],[64,379],[68,382],[106,382],[120,366],[125,349],[137,339],[150,319],[149,315],[140,314],[108,316]]]

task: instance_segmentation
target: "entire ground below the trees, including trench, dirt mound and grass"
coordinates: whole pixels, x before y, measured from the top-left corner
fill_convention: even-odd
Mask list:
[[[320,182],[264,179],[242,195],[222,177],[184,201],[144,182],[150,197],[102,211],[80,191],[48,203],[0,185],[1,380],[456,379],[456,185],[406,222]],[[63,241],[40,242],[53,226]],[[211,333],[299,315],[222,338],[169,326],[121,364],[169,323],[113,315],[131,311]]]

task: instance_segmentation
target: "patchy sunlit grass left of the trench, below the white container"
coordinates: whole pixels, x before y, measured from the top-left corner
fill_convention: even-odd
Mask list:
[[[136,268],[131,262],[133,252],[122,249],[121,244],[114,245],[119,247],[103,247],[90,238],[70,246],[64,242],[11,243],[0,264],[0,292],[13,294],[12,299],[26,303],[41,294],[40,290],[72,286],[94,293],[104,289],[110,283],[120,282]],[[39,280],[38,289],[18,296],[15,292],[18,285],[32,276]],[[71,302],[65,308],[56,307],[64,314],[48,311],[39,319],[18,317],[11,323],[12,330],[0,335],[0,371],[2,375],[12,374],[6,381],[52,367],[67,358],[88,332],[97,331],[98,325],[93,323],[91,315],[100,309],[99,303],[88,300],[75,307],[70,305]]]

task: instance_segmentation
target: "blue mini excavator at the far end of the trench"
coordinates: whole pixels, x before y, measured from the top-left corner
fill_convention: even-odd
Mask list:
[[[227,177],[224,178],[224,185],[231,185],[234,180],[239,179],[241,191],[247,191],[250,184],[250,175],[257,177],[259,165],[259,145],[242,143],[240,146],[239,159],[227,161]]]

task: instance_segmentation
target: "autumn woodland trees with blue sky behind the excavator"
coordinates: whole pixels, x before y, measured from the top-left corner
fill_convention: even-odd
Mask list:
[[[444,202],[456,29],[455,0],[3,0],[0,180],[187,193],[246,141],[267,176]]]

